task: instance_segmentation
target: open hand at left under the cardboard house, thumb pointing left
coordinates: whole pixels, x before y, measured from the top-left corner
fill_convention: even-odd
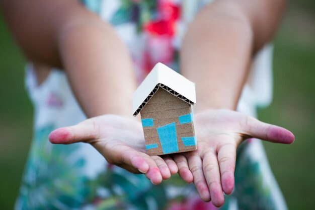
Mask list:
[[[58,128],[50,133],[49,141],[53,144],[89,143],[110,164],[132,173],[144,173],[153,184],[177,173],[172,159],[145,154],[141,123],[118,115],[102,115]]]

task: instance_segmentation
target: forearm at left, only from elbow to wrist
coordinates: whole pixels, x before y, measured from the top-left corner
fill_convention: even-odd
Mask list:
[[[58,45],[72,90],[89,117],[131,116],[132,63],[109,24],[95,19],[70,23],[60,31]]]

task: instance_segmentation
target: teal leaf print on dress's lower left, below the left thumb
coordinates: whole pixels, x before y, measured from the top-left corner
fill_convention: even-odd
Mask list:
[[[81,170],[85,160],[71,157],[79,145],[52,145],[48,134],[53,128],[35,130],[19,200],[26,209],[76,208],[89,194],[88,179]]]

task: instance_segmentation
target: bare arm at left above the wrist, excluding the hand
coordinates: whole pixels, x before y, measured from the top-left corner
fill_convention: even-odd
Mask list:
[[[29,60],[64,69],[88,117],[131,116],[132,64],[109,24],[77,0],[3,0],[0,6]]]

